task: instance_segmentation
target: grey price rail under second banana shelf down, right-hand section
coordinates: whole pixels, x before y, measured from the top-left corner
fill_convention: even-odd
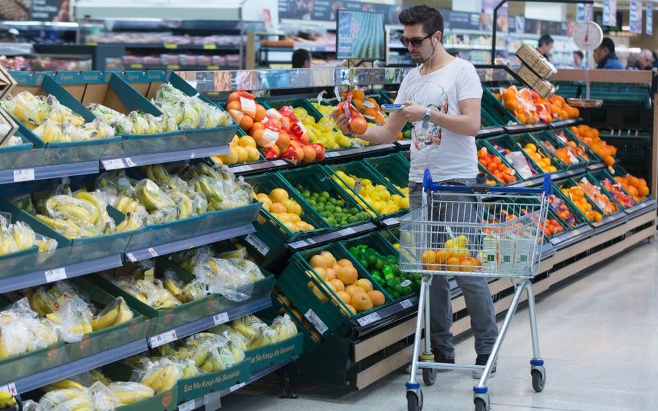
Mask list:
[[[159,230],[155,230],[156,233],[157,231]],[[130,247],[128,247],[129,250],[126,251],[126,259],[132,262],[152,259],[156,256],[171,254],[173,252],[183,251],[193,247],[201,247],[201,245],[217,243],[218,241],[228,240],[229,238],[245,236],[246,234],[251,234],[254,231],[255,228],[251,222],[248,222],[248,224],[233,227],[231,229],[214,231],[208,234],[201,234],[199,236],[184,238],[183,240],[171,241],[170,243],[153,245],[152,247],[143,247],[137,249],[130,249]]]

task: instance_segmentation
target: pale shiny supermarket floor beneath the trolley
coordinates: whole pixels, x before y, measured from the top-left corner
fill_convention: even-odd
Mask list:
[[[489,382],[496,411],[655,410],[658,381],[658,241],[580,274],[538,298],[546,389],[532,390],[528,310],[521,308]],[[470,336],[467,336],[470,337]],[[457,361],[475,360],[471,338],[456,346]],[[361,392],[335,396],[317,387],[296,400],[278,399],[276,385],[249,386],[222,399],[222,410],[406,410],[401,371]],[[439,373],[423,387],[424,410],[473,410],[470,374]],[[244,391],[243,391],[244,390]],[[247,391],[248,390],[248,391]]]

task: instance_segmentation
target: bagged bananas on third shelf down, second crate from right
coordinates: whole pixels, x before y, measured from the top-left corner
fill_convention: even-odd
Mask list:
[[[165,288],[160,279],[154,277],[152,268],[146,271],[135,270],[132,275],[119,277],[118,279],[112,277],[108,279],[121,290],[128,292],[128,294],[155,308],[155,310],[180,306],[180,301]]]

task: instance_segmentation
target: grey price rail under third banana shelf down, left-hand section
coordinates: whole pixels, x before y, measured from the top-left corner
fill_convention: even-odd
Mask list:
[[[74,360],[58,367],[53,367],[47,371],[20,378],[19,380],[14,381],[13,384],[16,386],[17,393],[22,394],[24,392],[36,390],[44,385],[60,381],[62,378],[75,376],[85,371],[89,371],[90,369],[110,364],[110,362],[135,356],[147,349],[146,340],[142,338],[120,347],[108,349],[92,356],[80,358],[79,360]]]

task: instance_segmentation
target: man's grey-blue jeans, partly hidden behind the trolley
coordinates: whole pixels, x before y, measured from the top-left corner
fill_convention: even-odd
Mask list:
[[[409,182],[410,209],[414,210],[423,204],[423,184]],[[475,202],[475,197],[468,194],[446,194],[441,196],[446,202]],[[445,205],[445,204],[444,204]],[[446,215],[447,214],[447,215]],[[432,218],[441,220],[457,221],[449,209],[433,210]],[[453,215],[453,218],[450,218]],[[471,222],[477,222],[480,218],[475,207],[471,208],[467,216],[459,216]],[[475,353],[478,355],[490,354],[494,342],[498,336],[496,326],[496,314],[494,303],[491,300],[491,292],[487,279],[484,277],[455,276],[457,285],[462,289],[466,311],[471,316],[471,330],[475,336]],[[453,346],[453,333],[450,327],[453,325],[453,306],[450,300],[450,286],[448,277],[436,275],[432,279],[430,287],[430,340],[432,351],[438,349],[446,358],[455,358],[455,347]]]

